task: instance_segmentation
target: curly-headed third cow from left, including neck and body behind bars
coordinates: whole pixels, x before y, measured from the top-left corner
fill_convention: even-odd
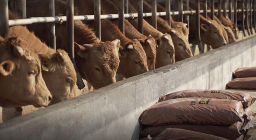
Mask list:
[[[48,10],[44,10],[48,8],[48,1],[27,0],[26,4],[28,17],[49,15]],[[55,13],[65,15],[66,3],[55,0]],[[29,25],[28,28],[33,30],[47,44],[49,43],[49,25],[38,26],[38,24],[33,24]],[[82,78],[87,80],[94,89],[116,82],[114,76],[119,65],[119,58],[114,52],[119,49],[118,43],[116,41],[100,41],[94,32],[80,21],[74,22],[74,34],[75,41],[80,44],[75,45],[75,60]],[[66,23],[56,24],[56,46],[66,47],[66,38]]]

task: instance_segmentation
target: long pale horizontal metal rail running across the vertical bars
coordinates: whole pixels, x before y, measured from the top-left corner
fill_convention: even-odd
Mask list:
[[[233,11],[233,10],[232,10]],[[238,12],[241,12],[242,10],[237,10]],[[200,13],[203,13],[204,10],[200,10]],[[207,10],[208,13],[211,12],[211,10]],[[218,12],[218,10],[214,10],[214,12]],[[221,10],[223,12],[223,10]],[[195,14],[195,10],[191,11],[183,11],[183,14]],[[171,15],[178,15],[179,12],[171,12]],[[157,12],[156,16],[165,16],[166,12]],[[152,13],[143,13],[143,17],[151,17]],[[101,19],[117,19],[118,14],[106,14],[101,15]],[[124,14],[124,18],[138,18],[138,14]],[[32,23],[57,23],[60,21],[66,21],[66,16],[56,16],[56,17],[34,17],[34,18],[27,18],[27,19],[14,19],[9,20],[9,26],[16,26],[16,25],[28,25]],[[87,16],[74,16],[74,20],[94,20],[94,15],[87,15]]]

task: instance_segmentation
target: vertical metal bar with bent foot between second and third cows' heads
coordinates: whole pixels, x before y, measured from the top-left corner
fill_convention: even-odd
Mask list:
[[[76,84],[79,89],[83,89],[85,87],[84,82],[77,70],[75,56],[74,56],[74,0],[66,0],[67,8],[66,8],[66,15],[67,15],[67,51],[68,56],[70,57],[71,61],[74,64],[76,70]]]

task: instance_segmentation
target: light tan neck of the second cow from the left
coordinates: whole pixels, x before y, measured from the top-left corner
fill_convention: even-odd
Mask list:
[[[33,49],[36,54],[42,53],[47,54],[48,56],[52,56],[55,51],[49,48],[46,44],[42,43],[40,39],[38,39],[34,33],[31,33],[23,26],[14,26],[10,27],[10,35],[18,36],[28,43],[31,49]]]

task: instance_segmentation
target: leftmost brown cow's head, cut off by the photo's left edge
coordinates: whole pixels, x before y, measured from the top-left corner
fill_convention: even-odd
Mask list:
[[[52,99],[38,55],[18,37],[0,37],[0,83],[1,107],[41,107]]]

